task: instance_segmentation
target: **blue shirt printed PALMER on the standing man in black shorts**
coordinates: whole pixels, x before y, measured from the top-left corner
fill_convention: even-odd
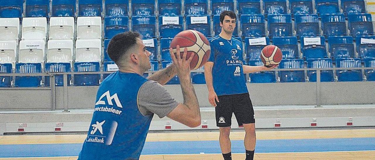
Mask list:
[[[210,41],[212,83],[217,95],[248,93],[242,70],[242,42],[215,36]]]

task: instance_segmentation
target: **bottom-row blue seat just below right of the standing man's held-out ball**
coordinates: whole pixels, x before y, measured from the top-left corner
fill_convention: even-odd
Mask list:
[[[282,59],[279,68],[303,68],[303,59]],[[305,82],[305,71],[279,71],[280,82]]]

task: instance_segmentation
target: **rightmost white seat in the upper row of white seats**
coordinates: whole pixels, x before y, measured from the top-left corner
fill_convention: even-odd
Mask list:
[[[77,39],[102,39],[102,18],[78,17]]]

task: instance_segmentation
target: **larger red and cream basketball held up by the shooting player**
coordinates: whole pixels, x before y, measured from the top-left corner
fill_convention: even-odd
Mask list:
[[[207,38],[200,32],[195,30],[185,30],[178,33],[169,47],[173,49],[174,55],[176,54],[176,46],[180,46],[181,58],[184,48],[187,47],[186,59],[190,58],[192,53],[194,57],[190,62],[190,69],[196,70],[199,67],[202,67],[210,58],[211,47]]]

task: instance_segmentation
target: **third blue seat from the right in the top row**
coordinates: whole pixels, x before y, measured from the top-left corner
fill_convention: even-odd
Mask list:
[[[312,14],[314,9],[312,7],[312,0],[289,0],[290,13],[292,17],[295,14]]]

